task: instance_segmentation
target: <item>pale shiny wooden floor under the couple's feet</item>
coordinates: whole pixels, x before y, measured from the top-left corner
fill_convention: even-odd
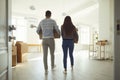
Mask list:
[[[63,54],[55,54],[55,71],[51,70],[48,55],[49,72],[44,73],[42,53],[28,53],[27,61],[13,68],[13,80],[113,80],[113,61],[93,60],[87,51],[74,52],[73,71],[68,57],[68,71],[63,73]]]

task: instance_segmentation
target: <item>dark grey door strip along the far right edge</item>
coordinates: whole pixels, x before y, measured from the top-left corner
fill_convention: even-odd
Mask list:
[[[114,80],[120,80],[120,0],[115,0],[115,54]]]

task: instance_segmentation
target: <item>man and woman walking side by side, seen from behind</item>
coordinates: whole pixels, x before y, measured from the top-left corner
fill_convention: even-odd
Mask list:
[[[51,19],[51,11],[47,10],[45,12],[45,19],[41,20],[38,28],[37,34],[39,35],[40,29],[42,29],[42,47],[43,47],[43,63],[45,73],[48,73],[48,63],[47,63],[47,55],[48,48],[50,49],[51,55],[51,68],[54,69],[56,65],[54,64],[54,51],[55,51],[55,41],[53,35],[53,27],[60,34],[60,30],[56,24],[56,21]],[[76,27],[73,25],[70,16],[66,16],[61,26],[61,36],[62,36],[62,49],[63,49],[63,65],[64,65],[64,73],[67,73],[67,56],[69,52],[71,68],[74,66],[74,32],[76,31]]]

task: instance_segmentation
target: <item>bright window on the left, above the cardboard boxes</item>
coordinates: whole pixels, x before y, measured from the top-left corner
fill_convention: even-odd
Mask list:
[[[27,22],[24,17],[13,17],[12,24],[16,27],[16,30],[13,31],[16,41],[27,42]]]

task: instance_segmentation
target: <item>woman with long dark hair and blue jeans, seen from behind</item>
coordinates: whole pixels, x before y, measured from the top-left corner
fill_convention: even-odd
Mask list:
[[[64,23],[61,26],[61,35],[62,35],[62,49],[63,49],[63,65],[64,65],[64,73],[67,73],[67,54],[69,52],[71,68],[73,69],[74,65],[74,32],[76,31],[75,26],[71,21],[70,16],[66,16],[64,19]]]

